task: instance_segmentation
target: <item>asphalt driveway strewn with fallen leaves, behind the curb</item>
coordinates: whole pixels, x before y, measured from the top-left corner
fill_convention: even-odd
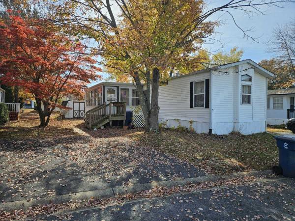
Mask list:
[[[123,137],[122,129],[55,139],[0,139],[0,201],[204,176],[188,163]]]

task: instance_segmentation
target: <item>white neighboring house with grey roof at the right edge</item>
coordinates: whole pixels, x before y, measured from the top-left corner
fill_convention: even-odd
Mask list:
[[[267,91],[267,124],[285,124],[289,118],[295,117],[295,88]]]

